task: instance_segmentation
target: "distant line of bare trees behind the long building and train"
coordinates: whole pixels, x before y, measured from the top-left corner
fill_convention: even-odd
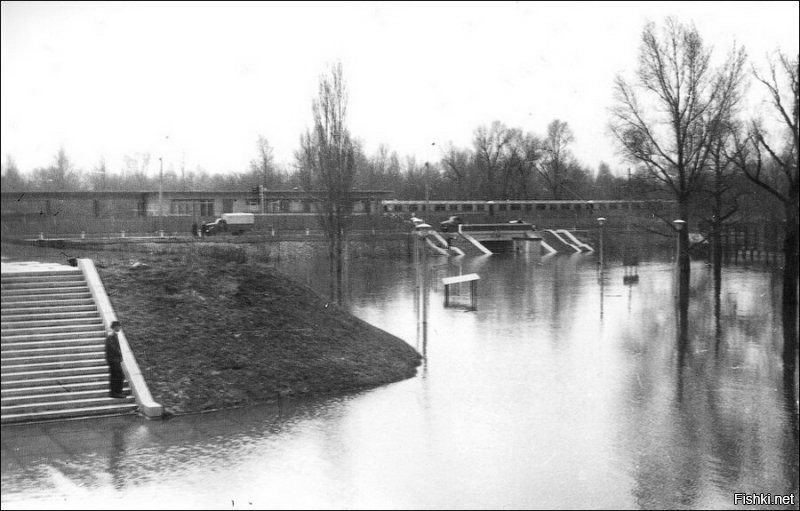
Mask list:
[[[554,120],[540,137],[500,121],[474,130],[472,145],[442,148],[439,161],[423,162],[400,156],[381,144],[367,154],[354,139],[354,187],[388,190],[398,199],[622,199],[641,190],[631,188],[627,170],[614,172],[600,162],[597,171],[571,153],[574,140],[565,121]],[[301,144],[302,145],[302,144]],[[296,161],[282,167],[274,161],[269,141],[259,136],[248,168],[209,173],[202,167],[163,171],[164,190],[233,191],[263,185],[272,190],[310,186],[298,150]],[[635,173],[634,173],[635,174]],[[635,177],[635,176],[634,176]],[[159,186],[159,161],[150,153],[125,155],[118,168],[104,159],[92,168],[77,167],[66,150],[59,149],[53,163],[21,170],[13,157],[3,162],[3,191],[122,191],[155,190]]]

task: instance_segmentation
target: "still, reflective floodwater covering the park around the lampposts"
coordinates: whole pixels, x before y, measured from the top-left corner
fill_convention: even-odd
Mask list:
[[[3,508],[733,508],[798,492],[797,380],[780,276],[693,265],[679,342],[673,266],[624,283],[593,255],[429,258],[418,329],[406,260],[355,260],[347,306],[426,359],[342,397],[150,422],[3,428]],[[328,290],[325,261],[286,263]],[[443,306],[441,278],[477,273]],[[682,347],[681,349],[679,349]],[[780,508],[782,506],[745,506]]]

